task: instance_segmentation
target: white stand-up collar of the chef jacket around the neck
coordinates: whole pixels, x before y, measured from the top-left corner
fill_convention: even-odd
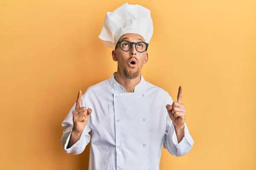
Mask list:
[[[115,74],[116,74],[116,72],[114,72],[111,75],[111,77],[108,79],[109,84],[116,91],[119,91],[121,93],[126,93],[125,88],[123,88],[122,85],[120,85],[118,82],[116,82],[116,79],[114,78]],[[143,89],[145,89],[145,79],[143,78],[143,76],[141,74],[140,83],[135,86],[134,92],[140,92],[140,91],[143,91]]]

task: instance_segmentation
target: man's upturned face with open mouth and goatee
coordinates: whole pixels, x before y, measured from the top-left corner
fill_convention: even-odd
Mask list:
[[[145,42],[142,36],[133,33],[122,35],[118,41],[121,40],[127,40],[130,42]],[[148,61],[148,53],[146,51],[143,53],[138,52],[134,44],[129,51],[122,51],[120,45],[118,44],[116,50],[112,51],[112,57],[114,61],[117,61],[117,71],[121,71],[124,77],[128,79],[137,78],[141,73],[143,64]]]

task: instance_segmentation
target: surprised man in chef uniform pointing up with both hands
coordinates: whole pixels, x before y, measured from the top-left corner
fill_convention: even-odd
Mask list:
[[[106,15],[99,38],[113,48],[117,71],[83,95],[79,91],[62,123],[67,153],[80,154],[91,139],[89,170],[158,170],[162,146],[183,156],[194,144],[181,86],[173,102],[141,75],[152,34],[150,11],[143,6],[125,3]]]

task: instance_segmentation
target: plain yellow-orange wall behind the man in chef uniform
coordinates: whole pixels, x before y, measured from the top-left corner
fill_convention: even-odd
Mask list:
[[[98,38],[123,0],[0,1],[0,169],[87,170],[61,147],[80,90],[116,71]],[[143,76],[177,99],[183,86],[192,150],[163,150],[160,170],[256,169],[256,1],[129,0],[151,10]]]

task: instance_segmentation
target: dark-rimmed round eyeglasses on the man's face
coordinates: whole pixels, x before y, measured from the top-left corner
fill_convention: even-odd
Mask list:
[[[148,43],[143,42],[143,41],[141,41],[141,42],[130,42],[130,41],[122,40],[122,41],[119,41],[116,44],[116,47],[117,47],[118,44],[120,45],[120,48],[121,48],[122,51],[129,51],[133,44],[135,45],[135,49],[139,53],[143,53],[144,51],[147,51],[147,49],[148,49]],[[116,50],[116,48],[115,48],[115,50]]]

